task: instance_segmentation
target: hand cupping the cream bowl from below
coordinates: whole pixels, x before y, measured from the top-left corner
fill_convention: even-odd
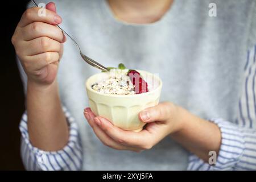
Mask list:
[[[139,113],[142,122],[147,123],[144,129],[135,133],[114,126],[107,119],[96,117],[90,108],[84,115],[94,133],[106,146],[117,150],[143,151],[155,146],[160,140],[181,129],[180,109],[170,102],[149,107]]]

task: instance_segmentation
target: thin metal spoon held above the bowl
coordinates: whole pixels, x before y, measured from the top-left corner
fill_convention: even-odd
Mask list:
[[[32,1],[32,3],[34,3],[34,5],[35,5],[36,7],[38,7],[38,5],[36,4],[36,2],[35,2],[34,0],[31,0],[31,1]],[[57,26],[58,28],[60,28],[60,26],[58,26],[58,25],[56,25],[56,26]],[[62,28],[60,28],[60,30],[61,30],[65,35],[67,35],[67,36],[76,44],[77,48],[79,48],[79,52],[80,52],[80,55],[81,55],[82,59],[85,60],[86,63],[88,63],[89,65],[92,65],[92,66],[95,67],[95,68],[101,69],[102,71],[106,71],[106,72],[110,71],[109,68],[106,68],[106,67],[104,67],[103,65],[101,65],[100,63],[94,61],[93,59],[90,59],[90,57],[85,56],[85,55],[81,52],[81,49],[80,49],[80,47],[79,47],[79,44],[77,44],[76,41],[75,41],[70,35],[68,35],[67,32],[65,32]]]

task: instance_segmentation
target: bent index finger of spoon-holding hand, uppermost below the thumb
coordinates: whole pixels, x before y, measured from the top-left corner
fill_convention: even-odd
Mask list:
[[[60,24],[62,22],[61,17],[55,12],[44,9],[45,15],[40,15],[40,11],[42,11],[42,9],[39,7],[31,7],[30,9],[27,9],[23,13],[18,27],[25,27],[33,22],[44,22],[53,25]]]

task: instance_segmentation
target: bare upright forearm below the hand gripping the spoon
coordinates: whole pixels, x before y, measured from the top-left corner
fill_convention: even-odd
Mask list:
[[[33,146],[45,151],[57,151],[67,144],[68,125],[56,81],[48,86],[28,81],[27,115],[28,133]]]

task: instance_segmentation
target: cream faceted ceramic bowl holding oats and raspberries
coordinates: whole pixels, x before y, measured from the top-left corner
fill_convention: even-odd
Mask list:
[[[109,119],[113,125],[123,130],[141,131],[145,124],[139,120],[138,114],[147,107],[158,105],[162,80],[152,73],[138,72],[148,83],[150,92],[128,96],[99,93],[92,89],[92,85],[108,79],[110,72],[98,73],[89,77],[86,81],[86,91],[93,113]]]

